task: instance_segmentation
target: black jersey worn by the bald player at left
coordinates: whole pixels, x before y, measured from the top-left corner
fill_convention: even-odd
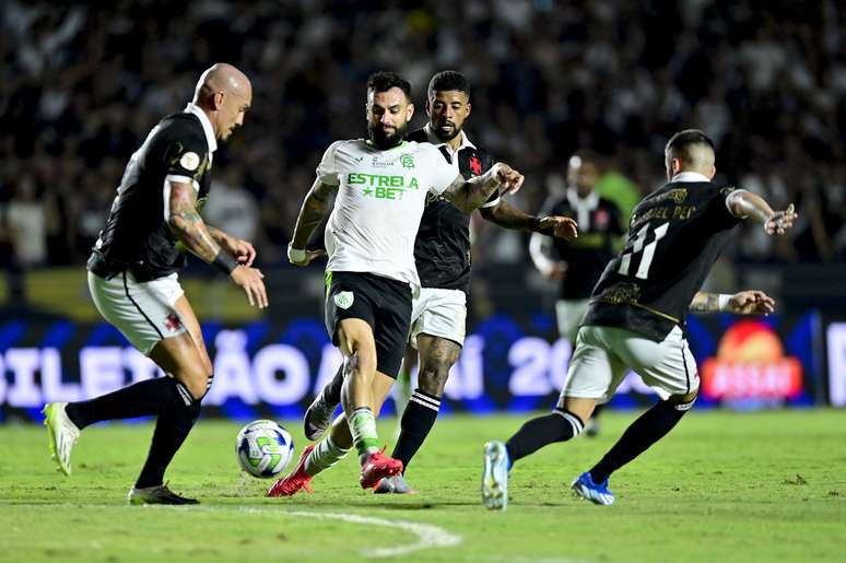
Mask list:
[[[165,117],[129,160],[89,270],[109,278],[128,270],[139,281],[185,267],[167,224],[169,181],[192,184],[198,206],[208,197],[212,151],[200,118],[186,110]]]

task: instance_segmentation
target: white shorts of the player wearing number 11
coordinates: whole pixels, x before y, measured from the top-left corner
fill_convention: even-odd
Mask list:
[[[561,397],[606,402],[634,371],[663,400],[700,388],[696,361],[681,328],[661,342],[624,328],[581,327]]]

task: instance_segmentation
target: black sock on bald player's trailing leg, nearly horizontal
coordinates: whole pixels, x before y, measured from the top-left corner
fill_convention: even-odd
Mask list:
[[[158,414],[191,400],[188,390],[173,377],[155,377],[87,401],[69,402],[64,411],[71,422],[84,429],[104,420]]]

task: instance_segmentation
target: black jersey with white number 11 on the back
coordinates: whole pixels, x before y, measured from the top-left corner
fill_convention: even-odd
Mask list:
[[[602,273],[584,325],[622,327],[656,341],[683,325],[740,221],[726,206],[731,190],[704,180],[673,181],[641,200],[625,248]]]

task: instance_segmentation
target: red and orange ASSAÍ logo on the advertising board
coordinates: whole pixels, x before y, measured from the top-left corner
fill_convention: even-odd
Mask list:
[[[702,366],[710,399],[789,399],[802,392],[802,365],[785,356],[778,335],[760,320],[741,320],[722,336],[716,357]]]

